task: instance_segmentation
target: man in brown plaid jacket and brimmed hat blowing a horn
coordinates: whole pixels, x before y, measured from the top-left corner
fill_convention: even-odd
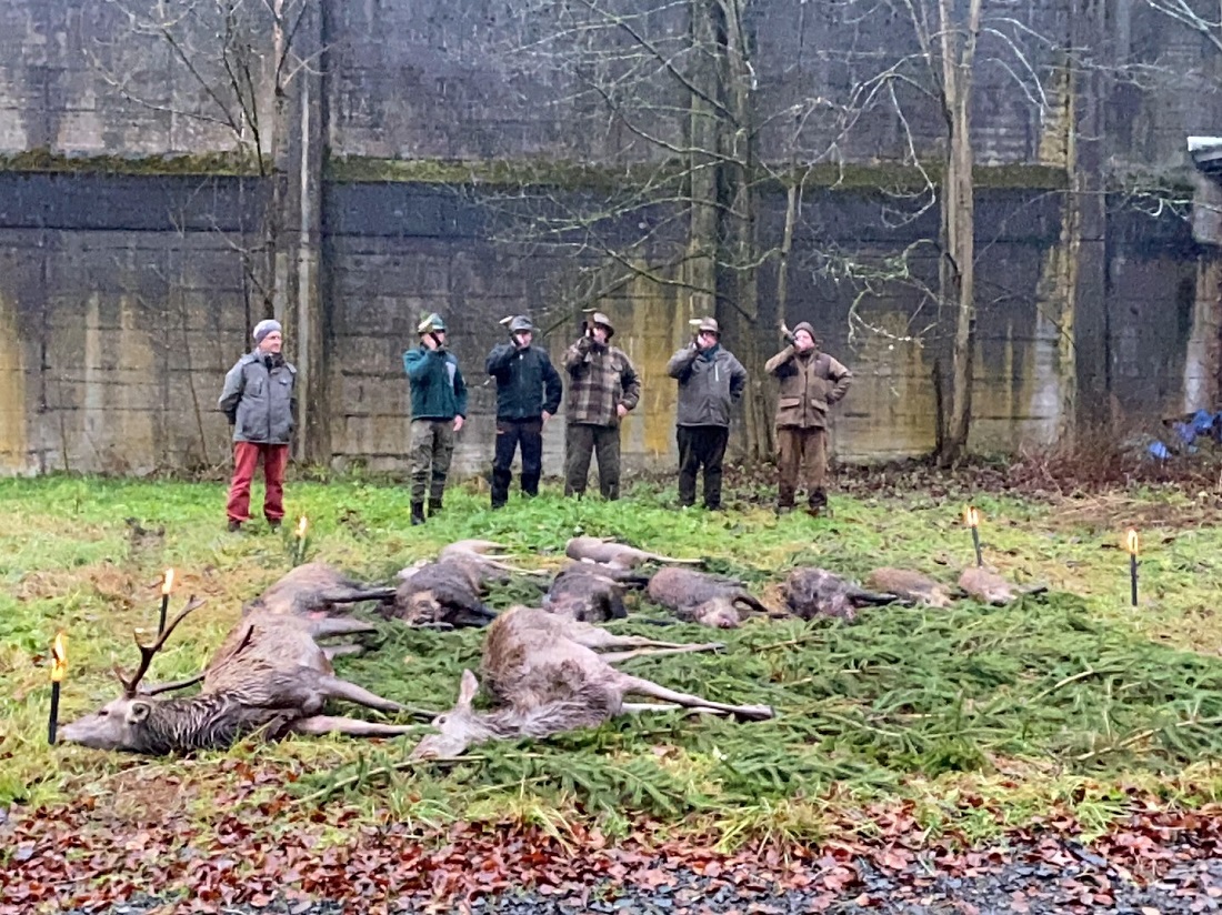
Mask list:
[[[594,312],[582,336],[565,353],[565,495],[585,492],[590,457],[599,456],[602,497],[620,497],[620,420],[640,399],[640,376],[627,353],[610,344],[611,319]]]

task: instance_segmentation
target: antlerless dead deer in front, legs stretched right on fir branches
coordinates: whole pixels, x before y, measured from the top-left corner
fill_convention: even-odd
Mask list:
[[[491,712],[474,711],[472,701],[479,691],[479,682],[474,673],[463,671],[457,705],[434,720],[437,733],[420,740],[412,757],[453,757],[485,740],[549,737],[594,727],[624,712],[687,707],[749,721],[771,718],[772,709],[766,705],[714,702],[621,673],[611,666],[643,655],[717,647],[720,645],[679,645],[613,635],[544,610],[512,607],[489,629],[480,667],[489,693],[501,707]],[[595,649],[622,650],[599,655]],[[624,702],[623,698],[632,694],[665,704]]]

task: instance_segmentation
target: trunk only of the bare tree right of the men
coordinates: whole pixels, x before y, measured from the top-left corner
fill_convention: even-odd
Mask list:
[[[942,35],[942,88],[948,143],[942,180],[941,263],[943,299],[956,301],[951,415],[938,462],[953,464],[967,450],[971,426],[971,375],[975,347],[975,200],[971,188],[971,67],[980,32],[981,0],[971,0],[968,35],[960,50],[953,23],[953,0],[938,0]]]

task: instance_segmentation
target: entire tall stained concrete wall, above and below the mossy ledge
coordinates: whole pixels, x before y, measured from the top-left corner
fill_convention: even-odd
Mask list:
[[[337,464],[402,467],[408,396],[401,354],[414,340],[418,315],[440,310],[472,385],[458,463],[485,468],[494,401],[481,369],[500,340],[496,321],[530,312],[554,327],[544,342],[558,359],[577,327],[572,303],[582,263],[506,241],[512,232],[502,231],[506,225],[488,206],[492,192],[478,181],[347,180],[345,158],[348,173],[352,158],[378,160],[373,171],[387,175],[391,166],[414,165],[417,178],[434,164],[452,175],[455,160],[470,164],[473,175],[490,164],[530,161],[547,178],[573,162],[657,156],[632,129],[632,117],[675,104],[673,84],[645,82],[621,116],[607,117],[578,90],[576,65],[549,56],[538,10],[527,9],[543,2],[332,0],[327,7],[327,143],[340,177],[325,188],[321,246]],[[126,9],[144,15],[156,6],[132,0]],[[851,16],[852,6],[870,13]],[[986,4],[991,13],[1020,17],[1033,34],[1050,38],[1022,46],[1039,72],[1058,61],[1056,46],[1077,34],[1072,20],[1085,6]],[[182,28],[193,48],[207,50],[218,23],[205,18],[209,5],[197,7]],[[648,21],[659,40],[678,40],[688,28],[676,10],[682,12],[670,7]],[[1136,0],[1117,0],[1108,10],[1088,56],[1140,68],[1105,81],[1094,99],[1106,115],[1102,155],[1130,192],[1150,176],[1173,183],[1185,173],[1184,137],[1222,122],[1215,89],[1222,55]],[[848,132],[837,114],[859,98],[880,60],[912,48],[910,32],[888,4],[761,0],[750,12],[761,120],[810,114],[800,129],[792,116],[767,121],[766,155],[873,169],[876,186],[891,187],[892,166],[908,151],[906,129],[923,153],[936,154],[937,112],[916,95],[902,98],[903,118],[879,103],[860,111]],[[248,26],[254,35],[270,34],[265,21]],[[609,32],[602,39],[616,40]],[[266,48],[255,50],[257,101],[266,116]],[[998,46],[982,45],[986,61],[1001,56]],[[227,452],[215,398],[259,316],[236,248],[258,225],[266,192],[254,180],[167,173],[208,171],[204,156],[252,139],[249,125],[238,125],[238,136],[224,123],[232,98],[207,90],[220,84],[218,61],[204,53],[197,60],[204,83],[164,38],[132,33],[119,4],[0,6],[0,155],[9,156],[0,171],[0,470],[141,473],[215,464]],[[979,192],[973,446],[982,450],[1052,440],[1073,398],[1056,282],[1064,195],[1031,178],[1035,166],[1066,164],[1073,111],[1064,87],[1050,79],[1044,89],[1041,108],[1000,65],[982,66],[978,76],[978,161],[1017,169],[998,172],[1004,180]],[[682,138],[681,121],[656,110],[653,116],[661,136]],[[177,155],[191,158],[163,161]],[[86,171],[66,171],[81,160]],[[1217,265],[1202,257],[1174,209],[1147,215],[1155,209],[1145,205],[1149,198],[1132,193],[1111,200],[1096,239],[1105,248],[1105,288],[1096,313],[1085,316],[1102,329],[1099,386],[1118,415],[1205,406],[1200,398],[1216,392]],[[780,237],[782,203],[765,200],[765,238]],[[932,359],[948,347],[947,324],[937,324],[920,291],[920,282],[936,280],[932,249],[910,260],[907,283],[871,285],[831,266],[832,254],[880,263],[936,238],[934,209],[915,219],[897,213],[910,215],[914,203],[832,181],[808,193],[798,225],[786,316],[791,324],[814,321],[827,349],[857,374],[837,418],[836,448],[844,458],[899,457],[932,446]],[[633,231],[631,220],[621,227]],[[774,291],[765,269],[763,320],[774,318]],[[627,452],[637,462],[668,461],[675,386],[662,366],[682,342],[688,304],[667,287],[631,283],[599,305],[616,318],[617,342],[645,379],[642,409],[627,421]],[[726,343],[736,347],[732,338]],[[558,423],[546,442],[546,467],[556,472]]]

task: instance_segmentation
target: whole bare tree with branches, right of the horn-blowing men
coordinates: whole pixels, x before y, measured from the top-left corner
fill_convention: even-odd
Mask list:
[[[1037,120],[1042,120],[1047,100],[1040,55],[1056,43],[1018,18],[1013,4],[997,0],[884,0],[882,4],[852,0],[849,6],[855,7],[853,15],[863,18],[887,13],[891,21],[904,23],[910,50],[897,54],[888,49],[885,55],[871,54],[871,49],[846,53],[844,60],[860,77],[841,108],[842,137],[849,143],[871,115],[890,111],[901,139],[897,153],[918,177],[915,184],[896,195],[891,217],[914,221],[936,203],[940,232],[937,239],[909,244],[890,263],[851,261],[841,269],[855,280],[865,280],[866,291],[880,283],[910,285],[921,296],[932,298],[940,314],[953,315],[951,371],[935,363],[941,395],[937,458],[949,464],[967,448],[971,425],[978,308],[973,89],[982,67],[997,70],[1017,97],[1035,109]],[[904,45],[902,33],[891,35],[898,39],[898,46]],[[979,49],[986,39],[987,53],[982,54]],[[875,66],[871,61],[879,56],[885,65],[871,70]],[[936,115],[931,117],[931,112]],[[921,127],[935,122],[941,125],[936,134],[921,133]],[[931,243],[938,253],[936,288],[930,288],[910,263],[913,255],[923,254]],[[942,379],[947,376],[943,390]]]

